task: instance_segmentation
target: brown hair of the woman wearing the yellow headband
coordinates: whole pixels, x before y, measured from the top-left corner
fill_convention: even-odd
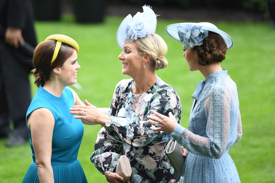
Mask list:
[[[39,43],[33,56],[34,69],[34,84],[39,87],[50,79],[52,70],[56,67],[62,67],[64,62],[72,55],[74,48],[68,44],[62,43],[60,50],[54,62],[51,65],[52,56],[56,46],[56,40],[47,40]]]

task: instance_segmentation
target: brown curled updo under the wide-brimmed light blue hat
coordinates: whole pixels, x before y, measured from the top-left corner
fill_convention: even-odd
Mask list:
[[[203,44],[192,48],[197,52],[198,64],[211,65],[225,59],[227,45],[224,39],[217,33],[208,32],[208,37],[203,39]]]

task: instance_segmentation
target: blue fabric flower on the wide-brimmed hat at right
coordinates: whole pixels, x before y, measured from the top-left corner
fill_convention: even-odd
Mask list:
[[[202,45],[203,39],[208,36],[208,31],[201,29],[201,27],[199,25],[178,26],[178,36],[183,43],[182,46],[192,49],[194,46]]]

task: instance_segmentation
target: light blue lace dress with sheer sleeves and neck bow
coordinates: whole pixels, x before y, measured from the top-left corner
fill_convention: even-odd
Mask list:
[[[192,96],[197,100],[191,108],[189,130],[178,124],[172,133],[188,149],[182,182],[238,183],[239,175],[229,155],[229,147],[242,134],[237,86],[223,70],[207,76],[195,93],[198,96]]]

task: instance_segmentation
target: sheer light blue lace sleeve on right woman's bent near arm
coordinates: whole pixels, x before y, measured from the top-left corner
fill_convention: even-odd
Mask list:
[[[177,141],[193,154],[220,158],[227,147],[230,133],[231,101],[232,96],[225,86],[211,88],[203,106],[207,119],[207,137],[184,128],[182,135],[176,137]],[[172,136],[174,137],[174,132]]]

